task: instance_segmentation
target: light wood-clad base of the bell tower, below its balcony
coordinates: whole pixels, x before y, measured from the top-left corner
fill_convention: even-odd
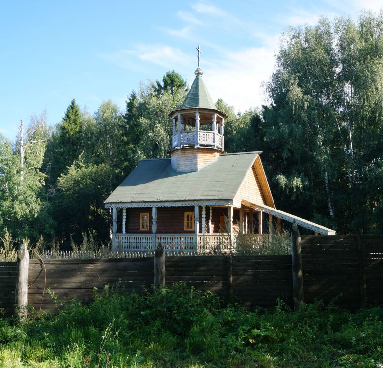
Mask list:
[[[198,171],[219,158],[219,151],[209,148],[180,148],[171,153],[171,166],[177,172]]]

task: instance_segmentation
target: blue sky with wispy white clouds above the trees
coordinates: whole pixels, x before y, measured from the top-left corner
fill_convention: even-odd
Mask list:
[[[4,1],[0,0],[0,134],[14,139],[20,119],[47,112],[60,122],[75,98],[93,114],[111,99],[125,109],[139,83],[175,69],[189,84],[201,46],[213,99],[237,111],[266,102],[287,26],[320,16],[356,19],[381,0],[326,1]]]

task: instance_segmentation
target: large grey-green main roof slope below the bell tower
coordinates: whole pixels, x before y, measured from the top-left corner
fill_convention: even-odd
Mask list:
[[[257,155],[223,154],[187,173],[175,172],[170,158],[142,160],[105,203],[232,200]]]

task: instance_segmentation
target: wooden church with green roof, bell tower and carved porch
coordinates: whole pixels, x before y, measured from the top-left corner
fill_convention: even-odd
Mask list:
[[[198,50],[199,51],[199,50]],[[173,122],[170,158],[146,159],[105,201],[114,249],[235,248],[236,239],[265,244],[273,217],[316,233],[335,231],[275,208],[260,151],[226,153],[227,117],[217,110],[199,66]],[[203,127],[203,129],[201,129]],[[267,214],[268,216],[264,216]]]

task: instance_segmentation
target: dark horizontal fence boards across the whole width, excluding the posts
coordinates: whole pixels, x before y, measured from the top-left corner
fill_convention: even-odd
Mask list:
[[[304,301],[316,299],[358,308],[383,303],[383,236],[302,236]],[[166,256],[165,283],[185,282],[201,291],[242,300],[245,306],[273,306],[277,298],[293,304],[291,256]],[[39,311],[59,300],[89,302],[94,288],[142,291],[154,283],[154,257],[111,259],[32,259],[28,303]],[[299,274],[299,271],[298,273]],[[0,263],[0,308],[15,303],[16,263]]]

